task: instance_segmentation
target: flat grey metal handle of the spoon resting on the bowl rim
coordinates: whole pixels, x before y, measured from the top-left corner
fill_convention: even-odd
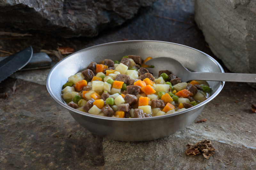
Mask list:
[[[191,72],[191,80],[256,82],[256,74]]]

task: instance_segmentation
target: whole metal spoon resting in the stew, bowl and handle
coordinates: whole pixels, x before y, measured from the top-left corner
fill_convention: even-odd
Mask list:
[[[155,68],[147,68],[155,76],[158,76],[160,70],[167,69],[180,77],[183,82],[190,80],[256,82],[256,74],[190,72],[179,61],[169,57],[153,58],[146,61],[145,64],[155,66]]]

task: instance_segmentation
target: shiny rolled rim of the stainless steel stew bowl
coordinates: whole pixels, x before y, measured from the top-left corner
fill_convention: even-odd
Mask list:
[[[224,69],[222,68],[222,66],[220,65],[220,63],[215,60],[213,57],[211,57],[210,55],[200,51],[200,50],[197,50],[195,48],[192,48],[192,47],[189,47],[189,46],[185,46],[185,45],[182,45],[182,44],[177,44],[177,43],[172,43],[172,42],[166,42],[166,41],[156,41],[156,40],[127,40],[127,41],[116,41],[116,42],[109,42],[109,43],[104,43],[104,44],[99,44],[99,45],[95,45],[95,46],[91,46],[91,47],[87,47],[87,48],[84,48],[82,50],[79,50],[75,53],[72,53],[70,54],[69,56],[65,57],[64,59],[60,60],[57,64],[55,64],[52,69],[50,70],[50,72],[48,73],[47,75],[47,78],[46,78],[46,89],[49,93],[49,95],[52,97],[52,99],[57,102],[58,104],[60,104],[62,107],[72,111],[72,112],[76,112],[80,115],[84,115],[84,116],[88,116],[88,117],[91,117],[91,118],[99,118],[99,119],[102,119],[102,120],[111,120],[111,121],[144,121],[144,120],[153,120],[153,119],[161,119],[161,118],[167,118],[167,117],[172,117],[172,116],[177,116],[177,115],[180,115],[180,114],[183,114],[184,112],[188,112],[188,111],[191,111],[191,110],[195,110],[195,109],[198,109],[199,107],[202,107],[204,106],[205,104],[209,103],[213,98],[215,98],[219,93],[220,91],[223,89],[223,86],[225,84],[225,81],[221,81],[220,82],[220,86],[218,87],[218,89],[215,91],[215,93],[213,93],[208,99],[206,99],[204,102],[202,103],[199,103],[197,104],[196,106],[193,106],[191,108],[188,108],[186,110],[182,110],[182,111],[178,111],[178,112],[175,112],[175,113],[172,113],[172,114],[168,114],[168,115],[161,115],[161,116],[155,116],[155,117],[143,117],[143,118],[117,118],[117,117],[104,117],[104,116],[98,116],[98,115],[93,115],[93,114],[90,114],[90,113],[86,113],[86,112],[83,112],[83,111],[80,111],[80,110],[76,110],[74,108],[71,108],[69,107],[68,105],[66,105],[63,101],[60,101],[52,92],[51,88],[50,88],[50,80],[51,80],[51,74],[52,72],[54,71],[54,69],[56,67],[58,67],[58,65],[60,64],[60,62],[62,62],[63,60],[67,60],[69,57],[72,57],[73,55],[75,55],[76,53],[81,53],[82,51],[84,50],[88,50],[88,49],[91,49],[91,48],[96,48],[96,47],[99,47],[99,46],[105,46],[105,45],[109,45],[109,44],[117,44],[117,43],[127,43],[127,42],[143,42],[143,41],[147,41],[147,42],[161,42],[161,43],[168,43],[168,44],[174,44],[174,45],[178,45],[178,46],[184,46],[184,47],[187,47],[187,48],[190,48],[192,50],[196,50],[197,52],[199,53],[202,53],[204,55],[206,55],[207,57],[209,57],[212,61],[214,61],[218,67],[220,68],[220,71],[221,73],[225,73],[224,72]]]

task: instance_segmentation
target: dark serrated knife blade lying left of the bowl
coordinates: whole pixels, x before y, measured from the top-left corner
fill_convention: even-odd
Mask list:
[[[0,82],[28,64],[33,55],[32,47],[28,47],[0,61]]]

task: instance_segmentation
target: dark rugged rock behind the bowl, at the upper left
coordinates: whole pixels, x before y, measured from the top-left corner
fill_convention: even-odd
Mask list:
[[[60,37],[94,37],[131,19],[156,0],[0,1],[0,25],[43,30]]]

